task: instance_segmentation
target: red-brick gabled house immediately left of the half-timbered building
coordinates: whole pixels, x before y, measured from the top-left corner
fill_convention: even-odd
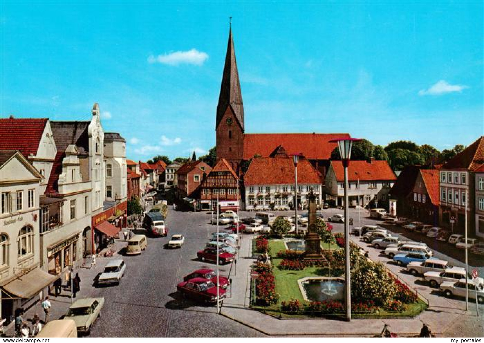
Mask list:
[[[192,193],[200,186],[204,177],[212,170],[212,168],[203,161],[188,161],[183,164],[176,172],[177,188],[176,193],[179,199],[187,198],[188,194]],[[191,199],[193,200],[193,199]]]

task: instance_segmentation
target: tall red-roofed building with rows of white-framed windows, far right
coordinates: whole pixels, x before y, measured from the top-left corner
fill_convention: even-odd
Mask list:
[[[475,226],[475,176],[484,164],[484,136],[445,163],[440,169],[440,225],[463,233],[467,205],[469,233],[483,236]],[[466,197],[466,193],[468,196]],[[469,199],[467,199],[469,198]],[[469,201],[469,203],[468,203]]]

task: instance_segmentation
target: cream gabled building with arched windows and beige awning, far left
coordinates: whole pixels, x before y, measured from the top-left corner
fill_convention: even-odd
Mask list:
[[[17,150],[0,150],[0,175],[0,314],[9,319],[46,295],[57,277],[41,268],[42,175]]]

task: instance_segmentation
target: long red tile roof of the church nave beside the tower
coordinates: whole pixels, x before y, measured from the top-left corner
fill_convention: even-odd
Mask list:
[[[283,145],[288,154],[302,153],[308,159],[329,159],[337,143],[330,140],[348,138],[348,133],[262,133],[245,134],[243,158],[254,155],[269,156],[275,148]]]

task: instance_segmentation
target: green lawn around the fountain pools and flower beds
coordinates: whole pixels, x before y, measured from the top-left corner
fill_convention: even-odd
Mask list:
[[[297,299],[302,304],[308,305],[309,302],[305,301],[302,297],[301,291],[299,289],[298,280],[304,277],[320,277],[320,276],[329,276],[331,272],[331,276],[340,276],[343,274],[342,270],[331,270],[329,271],[328,268],[321,268],[321,267],[306,267],[304,270],[279,270],[277,266],[281,263],[282,259],[275,258],[277,252],[280,250],[285,250],[286,246],[284,242],[280,239],[271,239],[269,240],[269,248],[271,249],[272,255],[272,265],[273,274],[275,278],[275,287],[276,292],[279,293],[280,298],[278,303],[272,304],[268,307],[263,306],[254,306],[255,309],[265,312],[267,314],[276,316],[276,317],[307,317],[308,315],[304,314],[296,314],[291,315],[287,313],[280,312],[281,302],[288,301],[291,299]],[[339,249],[337,245],[332,246],[333,249]],[[327,245],[326,245],[327,249]],[[355,314],[353,313],[354,317],[357,318],[388,318],[388,317],[411,317],[415,316],[416,314],[425,310],[427,305],[422,301],[418,300],[417,303],[407,305],[407,309],[404,312],[385,312],[379,311],[378,313],[372,314]]]

